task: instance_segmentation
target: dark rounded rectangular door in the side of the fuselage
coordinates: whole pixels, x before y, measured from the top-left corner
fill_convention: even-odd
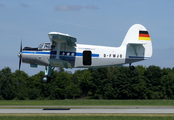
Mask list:
[[[83,51],[83,65],[91,65],[91,51]]]

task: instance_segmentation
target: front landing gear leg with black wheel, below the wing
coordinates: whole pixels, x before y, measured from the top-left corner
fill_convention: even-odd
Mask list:
[[[43,83],[49,83],[51,81],[50,75],[53,72],[54,67],[52,68],[51,66],[45,67],[45,75],[42,76],[41,81]]]

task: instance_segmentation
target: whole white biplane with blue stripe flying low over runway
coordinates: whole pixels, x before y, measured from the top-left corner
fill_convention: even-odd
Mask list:
[[[133,25],[127,32],[120,47],[76,44],[76,38],[59,32],[48,33],[51,43],[42,43],[38,48],[25,47],[22,42],[19,52],[21,60],[31,67],[45,66],[41,80],[50,82],[55,67],[98,68],[129,64],[146,60],[152,56],[152,43],[147,29],[140,24]]]

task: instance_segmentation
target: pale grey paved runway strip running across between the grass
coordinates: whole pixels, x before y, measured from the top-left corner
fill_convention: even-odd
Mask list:
[[[0,109],[0,113],[174,113],[174,109]]]

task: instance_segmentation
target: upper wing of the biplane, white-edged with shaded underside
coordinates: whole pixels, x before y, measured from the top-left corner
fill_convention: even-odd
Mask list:
[[[50,41],[61,41],[61,42],[66,42],[68,46],[76,46],[77,40],[74,37],[71,37],[68,34],[63,34],[63,33],[59,33],[59,32],[50,32],[48,34]]]

